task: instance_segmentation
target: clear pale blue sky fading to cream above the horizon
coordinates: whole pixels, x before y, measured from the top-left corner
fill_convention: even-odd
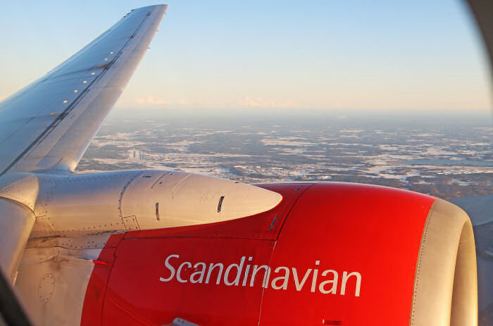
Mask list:
[[[461,1],[166,3],[117,108],[492,109],[487,57]],[[150,4],[5,1],[0,99]]]

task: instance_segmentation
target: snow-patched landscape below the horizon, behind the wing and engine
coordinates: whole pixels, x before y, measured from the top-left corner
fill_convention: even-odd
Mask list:
[[[491,116],[115,110],[78,172],[181,170],[247,183],[380,184],[448,199],[473,221],[480,325],[493,325]]]

